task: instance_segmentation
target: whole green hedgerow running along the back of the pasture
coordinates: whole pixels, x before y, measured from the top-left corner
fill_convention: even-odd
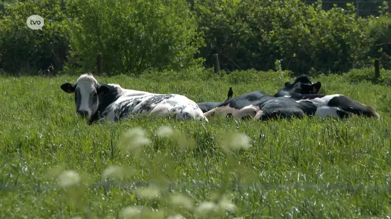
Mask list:
[[[322,10],[301,0],[25,0],[3,4],[0,69],[33,72],[53,65],[95,72],[103,54],[107,74],[183,71],[219,55],[224,72],[269,71],[279,61],[293,73],[337,73],[391,66],[388,4],[380,16],[356,18],[356,9]],[[43,31],[26,27],[39,14]],[[198,59],[200,58],[200,59]],[[193,68],[193,67],[192,67]],[[154,70],[153,70],[154,71]]]

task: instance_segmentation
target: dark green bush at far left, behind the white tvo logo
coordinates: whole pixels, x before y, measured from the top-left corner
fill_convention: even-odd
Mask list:
[[[26,0],[4,4],[0,19],[0,69],[5,72],[35,72],[50,65],[59,70],[65,64],[69,44],[65,4],[58,0]],[[42,30],[31,30],[26,19],[40,15]]]

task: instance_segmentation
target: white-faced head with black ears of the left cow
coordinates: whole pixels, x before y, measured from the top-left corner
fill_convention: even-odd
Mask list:
[[[100,85],[92,74],[83,74],[75,84],[64,83],[60,88],[67,93],[75,93],[76,114],[87,120],[98,110],[99,99],[110,92],[110,88]]]

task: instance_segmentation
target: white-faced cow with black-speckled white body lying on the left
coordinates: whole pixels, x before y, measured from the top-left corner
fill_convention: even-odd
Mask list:
[[[131,114],[173,115],[178,119],[196,119],[208,122],[197,104],[179,94],[156,94],[123,89],[117,84],[99,83],[92,74],[81,75],[75,84],[64,83],[61,89],[75,94],[76,114],[85,117],[88,124],[124,119]]]

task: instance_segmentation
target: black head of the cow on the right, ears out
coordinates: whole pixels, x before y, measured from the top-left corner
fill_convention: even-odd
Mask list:
[[[294,82],[285,82],[284,91],[300,94],[317,94],[322,87],[320,81],[312,84],[307,75],[301,75]]]

